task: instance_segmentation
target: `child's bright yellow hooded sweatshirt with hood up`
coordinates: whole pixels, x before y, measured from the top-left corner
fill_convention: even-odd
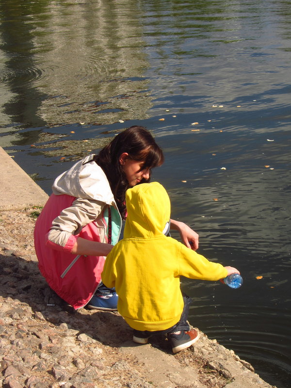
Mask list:
[[[180,276],[219,280],[227,271],[163,234],[170,199],[160,183],[127,190],[126,205],[124,239],[107,256],[102,281],[116,288],[118,311],[129,326],[165,330],[178,323],[183,310]]]

